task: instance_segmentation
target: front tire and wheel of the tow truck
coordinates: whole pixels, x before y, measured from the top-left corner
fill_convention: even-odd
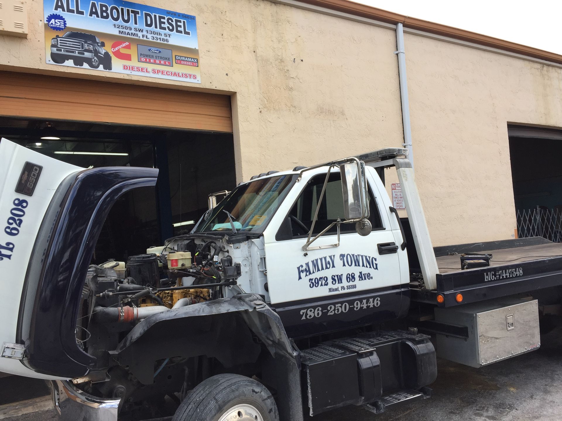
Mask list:
[[[269,390],[251,378],[218,374],[184,399],[172,421],[279,421]]]

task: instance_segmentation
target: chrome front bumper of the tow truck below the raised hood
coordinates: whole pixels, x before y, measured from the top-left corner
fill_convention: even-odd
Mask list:
[[[69,381],[49,382],[53,405],[63,421],[117,421],[120,399],[88,395]]]

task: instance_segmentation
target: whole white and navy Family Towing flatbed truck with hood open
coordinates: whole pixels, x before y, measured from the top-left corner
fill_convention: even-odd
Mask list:
[[[62,419],[378,414],[429,397],[436,356],[482,367],[559,323],[560,245],[434,249],[402,148],[261,173],[191,232],[92,264],[111,205],[157,173],[0,142],[0,371],[46,379]]]

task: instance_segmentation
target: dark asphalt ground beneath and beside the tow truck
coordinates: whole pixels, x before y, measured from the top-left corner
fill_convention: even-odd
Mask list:
[[[483,368],[438,360],[430,399],[375,415],[347,406],[314,421],[560,421],[562,420],[562,328],[541,338],[541,348]],[[9,418],[56,420],[54,410]],[[289,420],[287,420],[289,421]]]

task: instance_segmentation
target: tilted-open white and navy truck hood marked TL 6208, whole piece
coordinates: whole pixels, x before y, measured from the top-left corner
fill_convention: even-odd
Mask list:
[[[62,379],[94,367],[75,338],[94,246],[115,200],[157,175],[83,170],[0,141],[0,372]]]

